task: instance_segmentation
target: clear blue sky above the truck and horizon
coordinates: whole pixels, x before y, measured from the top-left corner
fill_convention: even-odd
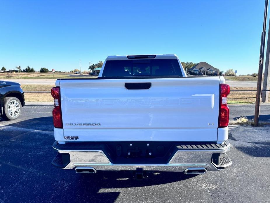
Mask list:
[[[264,0],[1,1],[0,67],[86,70],[108,55],[177,54],[257,73]],[[268,29],[267,29],[268,31]]]

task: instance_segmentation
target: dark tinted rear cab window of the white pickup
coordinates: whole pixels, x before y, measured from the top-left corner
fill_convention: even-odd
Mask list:
[[[177,59],[108,60],[102,77],[183,76]]]

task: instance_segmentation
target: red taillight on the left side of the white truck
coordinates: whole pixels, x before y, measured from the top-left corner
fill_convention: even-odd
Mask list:
[[[60,99],[60,87],[53,87],[51,90],[54,98],[53,107],[53,125],[55,128],[63,128],[62,112],[61,112],[61,99]]]

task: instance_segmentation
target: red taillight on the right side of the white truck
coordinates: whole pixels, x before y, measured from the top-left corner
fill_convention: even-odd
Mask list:
[[[220,110],[218,118],[218,127],[224,128],[229,124],[230,109],[227,105],[227,96],[230,93],[230,86],[226,84],[220,84]]]

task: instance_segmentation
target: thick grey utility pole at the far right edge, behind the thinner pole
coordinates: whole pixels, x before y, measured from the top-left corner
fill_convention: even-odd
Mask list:
[[[265,57],[265,65],[264,65],[264,82],[263,82],[263,90],[269,89],[270,83],[270,21],[269,21],[269,28],[268,28],[268,37],[267,37],[267,46],[266,46],[266,57]],[[268,102],[269,92],[263,91],[262,92],[262,102]]]

